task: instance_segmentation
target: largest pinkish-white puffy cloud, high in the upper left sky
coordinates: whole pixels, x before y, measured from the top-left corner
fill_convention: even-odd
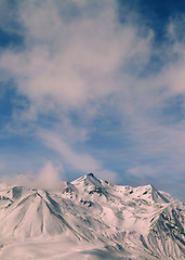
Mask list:
[[[151,35],[142,38],[133,26],[120,26],[113,3],[67,23],[60,15],[65,4],[62,10],[56,1],[21,4],[26,49],[4,53],[0,64],[13,73],[37,113],[88,107],[117,91],[113,77],[128,60],[147,61]]]

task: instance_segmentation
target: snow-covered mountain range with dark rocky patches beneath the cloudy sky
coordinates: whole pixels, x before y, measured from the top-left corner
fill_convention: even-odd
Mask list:
[[[0,183],[0,259],[185,259],[185,205],[93,173],[51,192]]]

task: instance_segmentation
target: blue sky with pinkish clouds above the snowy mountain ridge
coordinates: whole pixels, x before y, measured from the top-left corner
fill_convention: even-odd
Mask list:
[[[184,200],[185,1],[0,1],[0,176],[44,172]]]

